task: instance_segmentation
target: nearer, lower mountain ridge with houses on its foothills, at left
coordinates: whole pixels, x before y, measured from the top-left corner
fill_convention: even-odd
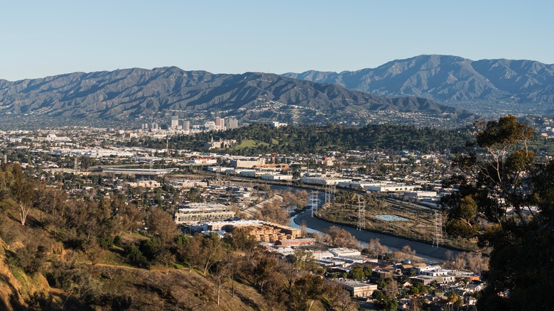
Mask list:
[[[371,111],[472,117],[429,99],[378,97],[337,85],[259,72],[214,75],[177,67],[134,68],[0,81],[0,116],[128,120],[216,113],[243,121],[325,123],[367,121]]]

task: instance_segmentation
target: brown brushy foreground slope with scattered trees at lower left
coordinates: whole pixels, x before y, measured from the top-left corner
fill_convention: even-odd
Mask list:
[[[114,192],[68,194],[18,165],[0,167],[0,250],[0,280],[43,280],[38,290],[5,293],[21,309],[355,310],[308,253],[279,258],[241,230],[224,239],[182,234],[163,209]]]

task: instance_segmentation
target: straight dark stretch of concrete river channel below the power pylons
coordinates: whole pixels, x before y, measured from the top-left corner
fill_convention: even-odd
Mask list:
[[[298,216],[294,218],[294,222],[295,224],[298,224],[298,225],[304,223],[306,224],[306,227],[316,231],[322,231],[331,226],[337,226],[349,231],[353,236],[356,237],[356,239],[362,242],[369,242],[369,240],[371,239],[379,239],[379,242],[382,245],[387,246],[389,249],[400,250],[402,246],[408,245],[411,247],[411,249],[415,250],[416,256],[420,256],[435,262],[442,263],[443,261],[445,261],[446,259],[445,253],[446,251],[448,251],[448,249],[445,249],[442,247],[434,247],[429,244],[397,238],[396,236],[388,236],[385,234],[379,234],[371,231],[363,231],[363,230],[359,231],[352,227],[325,222],[324,220],[311,217],[310,210],[307,210],[301,214],[298,214]],[[452,251],[452,253],[455,255],[457,251]]]

